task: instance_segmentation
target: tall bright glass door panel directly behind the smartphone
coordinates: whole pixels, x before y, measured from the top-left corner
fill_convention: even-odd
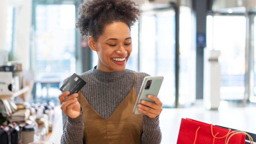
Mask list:
[[[164,76],[158,97],[163,108],[175,103],[175,11],[142,13],[140,21],[140,71]]]

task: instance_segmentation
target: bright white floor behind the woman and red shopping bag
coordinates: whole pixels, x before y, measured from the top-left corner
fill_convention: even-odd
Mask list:
[[[49,141],[60,144],[62,135],[60,108],[57,107],[55,112],[55,125]],[[209,124],[256,133],[255,112],[256,107],[230,107],[225,102],[222,103],[218,111],[208,111],[201,106],[189,109],[163,109],[160,115],[161,144],[176,144],[181,118],[191,118]]]

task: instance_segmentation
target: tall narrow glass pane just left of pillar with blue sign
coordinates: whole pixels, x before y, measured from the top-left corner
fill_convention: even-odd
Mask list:
[[[179,104],[190,106],[196,96],[196,51],[192,46],[191,9],[185,6],[180,9]]]

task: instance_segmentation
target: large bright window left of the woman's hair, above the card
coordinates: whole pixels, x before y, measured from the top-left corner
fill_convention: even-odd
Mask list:
[[[75,5],[36,6],[36,79],[75,73]]]

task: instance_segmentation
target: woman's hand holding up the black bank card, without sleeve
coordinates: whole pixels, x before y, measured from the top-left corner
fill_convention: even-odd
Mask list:
[[[69,93],[69,91],[66,91],[59,96],[61,104],[60,109],[70,118],[77,118],[81,114],[81,106],[77,101],[78,94],[74,93],[68,96]]]

